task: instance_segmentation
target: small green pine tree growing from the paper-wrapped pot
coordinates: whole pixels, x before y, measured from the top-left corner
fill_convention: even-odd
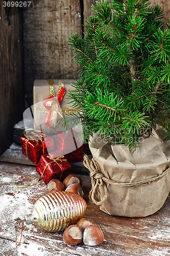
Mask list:
[[[84,38],[74,34],[81,78],[69,92],[84,135],[138,147],[138,137],[156,124],[170,135],[170,23],[147,0],[96,2]],[[66,126],[79,120],[72,114]],[[152,130],[151,130],[152,131]]]

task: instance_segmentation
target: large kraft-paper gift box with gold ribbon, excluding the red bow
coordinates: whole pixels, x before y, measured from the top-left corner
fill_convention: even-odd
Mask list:
[[[76,109],[71,108],[70,100],[67,99],[67,94],[69,90],[75,90],[74,87],[71,86],[71,82],[75,82],[76,80],[68,80],[62,79],[61,81],[58,79],[48,79],[48,80],[35,80],[34,88],[33,88],[33,111],[34,111],[34,127],[36,129],[40,129],[45,133],[56,133],[57,131],[62,131],[62,127],[57,125],[54,131],[50,131],[50,126],[48,126],[45,121],[48,118],[49,114],[49,106],[44,104],[44,101],[48,97],[52,97],[51,100],[55,100],[60,92],[60,84],[64,84],[65,94],[62,95],[61,103],[58,105],[58,117],[64,116],[69,113],[76,113]],[[47,102],[50,105],[49,102]],[[45,106],[44,106],[45,105]],[[61,109],[60,109],[61,108]]]

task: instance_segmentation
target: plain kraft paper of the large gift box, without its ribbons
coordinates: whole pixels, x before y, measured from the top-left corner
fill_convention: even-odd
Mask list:
[[[72,103],[70,103],[70,99],[67,99],[68,91],[75,90],[74,87],[71,86],[71,82],[76,82],[75,79],[61,79],[64,83],[65,95],[61,101],[61,108],[71,108]],[[57,94],[59,79],[54,79],[55,83],[55,94]],[[48,91],[48,83],[47,80],[35,80],[34,88],[33,88],[33,104],[34,104],[34,128],[43,130],[48,133],[49,126],[45,124],[46,117],[48,113],[36,112],[36,108],[42,107],[44,108],[43,101],[49,97]],[[63,114],[64,116],[64,114]],[[56,126],[55,132],[62,131],[62,127],[59,125]]]

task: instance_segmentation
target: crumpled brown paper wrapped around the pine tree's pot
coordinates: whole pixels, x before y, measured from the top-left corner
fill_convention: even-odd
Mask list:
[[[111,145],[98,135],[90,138],[89,147],[100,172],[108,179],[136,182],[160,175],[170,166],[170,145],[164,139],[162,127],[153,130],[154,136],[140,141],[140,150],[132,153],[124,145]],[[108,196],[100,209],[109,215],[145,217],[154,214],[164,204],[170,190],[170,170],[150,184],[137,187],[107,185]],[[100,186],[104,195],[104,186]]]

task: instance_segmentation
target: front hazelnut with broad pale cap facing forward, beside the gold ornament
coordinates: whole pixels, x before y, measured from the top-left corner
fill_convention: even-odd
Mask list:
[[[63,241],[69,245],[79,244],[83,241],[83,232],[77,225],[71,225],[64,230]]]

